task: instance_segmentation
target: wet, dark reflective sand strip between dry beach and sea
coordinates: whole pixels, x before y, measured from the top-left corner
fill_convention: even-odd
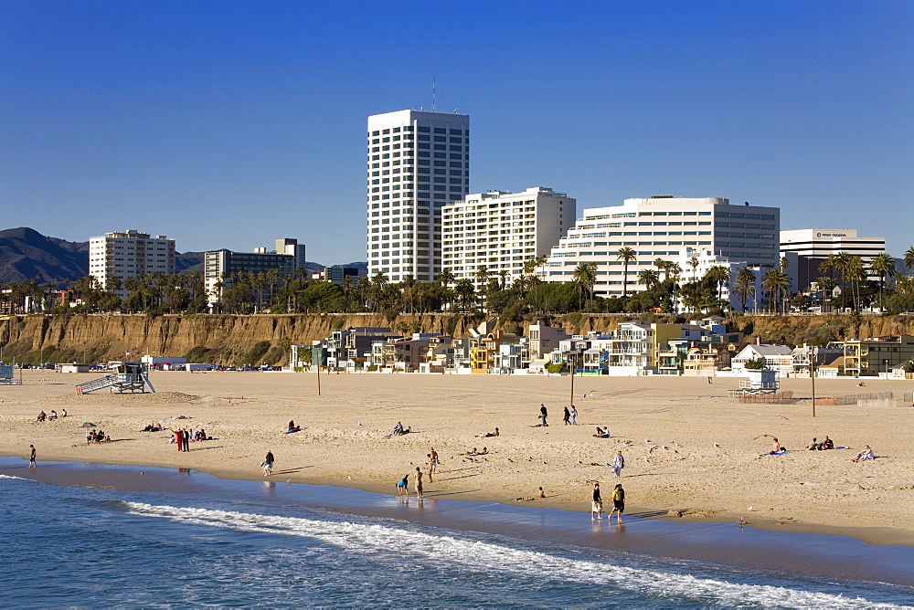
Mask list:
[[[175,506],[223,505],[237,509],[328,510],[367,519],[474,532],[537,543],[624,552],[661,561],[696,562],[725,570],[762,570],[813,579],[854,580],[902,587],[914,586],[908,566],[914,549],[876,547],[853,538],[752,527],[726,522],[655,520],[632,511],[624,527],[590,521],[585,513],[545,504],[505,504],[484,500],[404,498],[356,488],[257,479],[220,479],[191,468],[162,468],[48,461],[46,468],[27,468],[18,458],[0,457],[0,475],[56,486],[111,489],[135,493],[166,492]],[[161,497],[161,496],[159,496]],[[139,496],[143,498],[143,495]],[[254,507],[260,507],[254,509]],[[286,513],[287,514],[287,513]],[[578,518],[569,516],[577,515]]]

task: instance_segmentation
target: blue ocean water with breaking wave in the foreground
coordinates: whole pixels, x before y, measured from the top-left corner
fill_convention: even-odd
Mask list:
[[[2,605],[914,605],[905,586],[362,516],[243,483],[220,497],[0,475]]]

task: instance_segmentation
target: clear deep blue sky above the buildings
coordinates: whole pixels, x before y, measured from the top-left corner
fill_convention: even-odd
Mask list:
[[[914,2],[0,1],[0,228],[365,260],[369,114],[471,115],[471,192],[781,207],[914,244]]]

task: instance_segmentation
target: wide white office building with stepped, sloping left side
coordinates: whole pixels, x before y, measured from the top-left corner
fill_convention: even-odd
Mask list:
[[[585,209],[584,217],[552,248],[540,272],[546,281],[566,282],[580,263],[594,263],[595,293],[622,296],[622,247],[635,253],[628,265],[632,294],[647,289],[638,283],[638,271],[651,268],[657,258],[673,260],[682,247],[710,250],[755,267],[774,267],[780,229],[777,207],[730,205],[723,197],[626,199],[623,205]]]

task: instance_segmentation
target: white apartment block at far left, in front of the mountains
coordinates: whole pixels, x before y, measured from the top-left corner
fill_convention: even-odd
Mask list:
[[[99,280],[102,287],[115,279],[123,280],[153,272],[175,273],[175,240],[164,235],[150,237],[136,230],[115,231],[89,240],[89,274]],[[126,289],[114,290],[126,297]]]

